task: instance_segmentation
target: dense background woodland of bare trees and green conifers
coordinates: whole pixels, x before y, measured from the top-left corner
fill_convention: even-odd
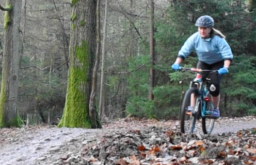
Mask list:
[[[99,112],[102,107],[102,119],[178,117],[182,97],[194,74],[175,72],[171,64],[188,36],[197,31],[196,19],[206,14],[226,35],[234,54],[230,72],[221,83],[221,115],[256,113],[254,0],[156,0],[153,6],[148,0],[107,2],[101,1],[100,8],[102,43],[95,93],[95,109]],[[5,6],[6,1],[1,0],[0,4]],[[5,12],[0,12],[1,63],[5,52]],[[22,120],[29,118],[30,124],[58,122],[68,86],[70,35],[72,28],[78,26],[73,22],[76,15],[72,13],[72,2],[23,0],[20,17],[17,110]],[[182,65],[195,67],[196,63],[193,52]],[[1,77],[2,70],[1,65]]]

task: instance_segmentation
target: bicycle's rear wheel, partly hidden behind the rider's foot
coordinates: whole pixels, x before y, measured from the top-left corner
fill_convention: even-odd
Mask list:
[[[207,97],[211,98],[211,95],[209,93],[209,91],[207,92]],[[206,103],[206,111],[211,111],[211,109],[213,109],[213,105],[211,101],[205,101]],[[203,133],[206,134],[211,134],[214,128],[214,123],[215,123],[215,119],[212,119],[210,117],[204,117],[202,118],[202,131]]]

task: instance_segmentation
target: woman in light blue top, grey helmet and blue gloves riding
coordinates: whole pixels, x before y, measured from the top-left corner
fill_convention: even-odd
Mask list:
[[[172,68],[177,70],[180,63],[195,49],[198,56],[197,68],[217,70],[218,74],[201,73],[202,81],[209,76],[209,92],[211,94],[213,118],[219,118],[219,101],[220,101],[220,80],[221,75],[229,72],[229,66],[233,59],[233,54],[226,36],[219,30],[214,29],[214,20],[209,15],[199,17],[195,24],[198,27],[198,32],[192,34],[181,47],[178,57]],[[188,112],[193,112],[195,101],[187,107]]]

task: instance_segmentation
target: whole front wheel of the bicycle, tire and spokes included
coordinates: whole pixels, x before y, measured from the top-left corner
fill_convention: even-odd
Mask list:
[[[200,97],[198,89],[195,87],[191,87],[186,91],[186,94],[181,105],[180,126],[182,133],[193,133],[196,126],[197,115],[199,111],[197,111],[197,109],[195,108],[195,114],[187,114],[187,107],[190,105],[190,98],[192,94],[195,95],[195,107],[200,108]],[[191,123],[185,124],[186,119],[190,120]],[[189,129],[185,129],[186,126],[189,126]]]

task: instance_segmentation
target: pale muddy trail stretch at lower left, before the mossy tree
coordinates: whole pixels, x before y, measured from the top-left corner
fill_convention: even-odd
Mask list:
[[[17,130],[16,130],[17,131]],[[23,129],[13,133],[3,131],[0,140],[0,164],[29,165],[33,161],[43,162],[47,151],[57,151],[65,140],[79,135],[93,135],[98,130],[42,128]],[[7,134],[7,135],[3,135]]]

